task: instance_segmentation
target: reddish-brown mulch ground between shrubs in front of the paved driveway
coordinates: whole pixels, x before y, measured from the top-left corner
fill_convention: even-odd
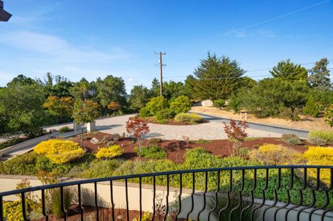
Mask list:
[[[96,139],[103,139],[104,136],[111,136],[111,134],[105,134],[103,132],[96,132],[94,134],[86,134],[86,137],[88,136],[89,139],[86,139],[83,141],[83,145],[85,148],[87,148],[88,152],[96,153],[98,152],[99,148],[104,148],[105,144],[94,144],[90,142],[90,139],[95,137]],[[73,141],[76,141],[80,143],[80,136],[74,137]],[[196,141],[177,141],[177,140],[169,140],[169,141],[163,141],[161,140],[160,143],[148,143],[149,140],[144,141],[144,145],[159,145],[161,148],[167,151],[167,159],[170,159],[171,161],[174,161],[176,163],[182,163],[184,161],[184,155],[185,152],[192,148],[202,147],[205,148],[205,150],[208,150],[214,155],[221,156],[221,157],[228,157],[233,152],[233,144],[228,139],[222,139],[222,140],[213,140],[209,141],[207,143],[198,143]],[[128,137],[121,138],[119,141],[115,142],[117,145],[121,145],[123,148],[123,155],[122,158],[124,159],[140,159],[137,157],[137,154],[134,151],[135,146],[137,146],[137,143],[133,139],[129,139]],[[299,152],[305,152],[308,147],[307,145],[310,145],[306,141],[303,141],[303,145],[289,145],[287,143],[284,143],[281,139],[278,138],[271,138],[271,137],[262,137],[250,141],[244,141],[242,146],[247,147],[249,149],[258,148],[259,145],[262,145],[264,143],[273,143],[273,144],[279,144],[286,146],[288,148],[291,148],[293,150],[297,150]],[[140,159],[140,160],[146,160],[146,159]]]

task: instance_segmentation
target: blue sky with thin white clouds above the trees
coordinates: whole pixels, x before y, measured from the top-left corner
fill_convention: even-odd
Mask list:
[[[121,76],[128,91],[159,76],[154,51],[166,51],[164,80],[184,80],[207,51],[243,69],[278,61],[333,59],[333,1],[4,0],[0,86],[17,74],[69,80]],[[311,68],[311,64],[305,65]],[[330,64],[333,67],[333,61]],[[246,73],[255,79],[268,71]]]

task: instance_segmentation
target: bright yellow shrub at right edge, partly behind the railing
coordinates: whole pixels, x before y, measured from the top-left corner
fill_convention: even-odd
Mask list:
[[[321,146],[311,146],[309,150],[303,154],[307,159],[307,165],[333,165],[333,148],[323,148]],[[316,169],[307,170],[311,177],[316,177]],[[330,183],[330,169],[321,169],[321,180],[325,183]]]

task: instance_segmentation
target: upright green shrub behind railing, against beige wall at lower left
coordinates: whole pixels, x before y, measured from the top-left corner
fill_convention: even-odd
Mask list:
[[[64,206],[65,209],[68,210],[71,206],[71,202],[73,200],[73,192],[71,188],[64,188]],[[51,207],[52,213],[56,215],[57,218],[63,218],[65,213],[61,211],[61,195],[60,188],[54,188],[51,190]]]

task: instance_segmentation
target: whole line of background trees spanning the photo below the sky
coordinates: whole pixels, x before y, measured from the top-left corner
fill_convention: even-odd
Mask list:
[[[246,70],[236,60],[208,53],[185,82],[164,82],[163,96],[169,101],[179,96],[192,101],[210,99],[219,106],[228,101],[225,109],[244,110],[258,117],[317,117],[333,104],[328,63],[323,58],[311,69],[305,69],[289,59],[283,60],[269,71],[270,78],[253,80],[245,76]],[[112,75],[92,82],[85,78],[71,82],[51,73],[44,79],[19,75],[0,88],[0,134],[23,132],[37,136],[43,125],[80,118],[74,114],[74,107],[80,107],[85,100],[97,109],[99,116],[110,116],[139,112],[157,96],[160,82],[156,78],[150,88],[135,85],[127,94],[123,79]]]

